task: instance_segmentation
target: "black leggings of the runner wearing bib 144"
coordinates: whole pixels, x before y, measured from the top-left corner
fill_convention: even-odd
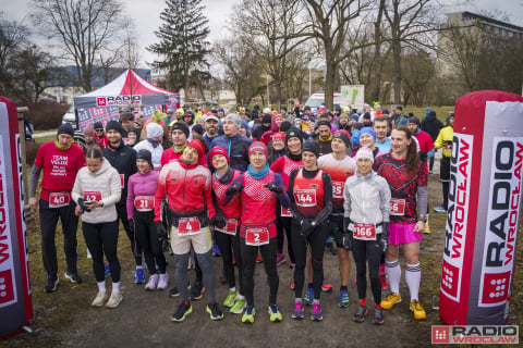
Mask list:
[[[292,249],[296,260],[294,269],[294,294],[296,298],[303,297],[303,284],[305,283],[305,265],[307,262],[307,245],[311,246],[313,261],[313,287],[314,299],[319,300],[321,284],[324,282],[324,249],[327,237],[330,234],[329,225],[319,225],[307,236],[300,234],[300,225],[292,224]]]

